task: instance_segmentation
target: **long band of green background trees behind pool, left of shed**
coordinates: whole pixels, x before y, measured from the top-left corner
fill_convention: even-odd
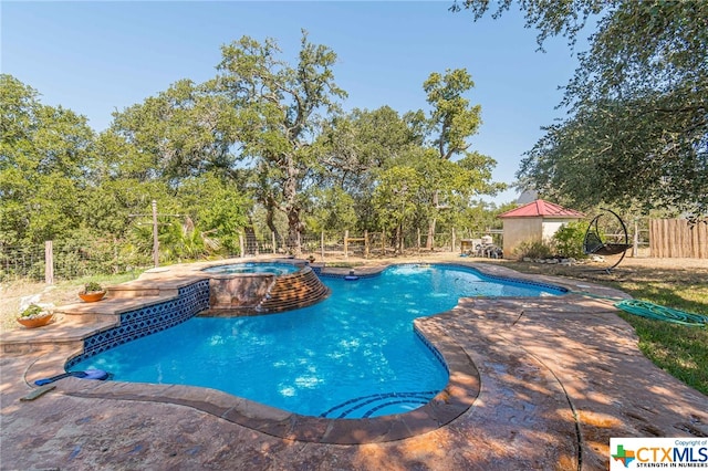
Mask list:
[[[243,36],[214,80],[179,80],[98,135],[2,75],[0,242],[54,240],[66,273],[114,273],[149,263],[153,200],[171,262],[238,253],[244,228],[294,252],[306,230],[386,228],[402,241],[404,228],[464,223],[475,196],[501,188],[493,159],[467,150],[480,124],[467,71],[430,74],[428,117],[344,115],[334,51],[303,32],[295,63],[280,52]]]

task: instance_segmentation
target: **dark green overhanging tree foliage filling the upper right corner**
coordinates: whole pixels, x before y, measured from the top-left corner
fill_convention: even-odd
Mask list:
[[[500,2],[497,15],[512,0]],[[708,212],[708,2],[519,2],[539,43],[574,43],[598,19],[565,87],[569,117],[546,128],[518,174],[525,187],[580,206]],[[481,18],[486,0],[466,0]]]

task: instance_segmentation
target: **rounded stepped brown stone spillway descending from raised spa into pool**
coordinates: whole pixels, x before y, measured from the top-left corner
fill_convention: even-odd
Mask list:
[[[280,312],[305,307],[330,295],[326,287],[310,266],[298,273],[278,276],[275,283],[258,306],[260,312]]]

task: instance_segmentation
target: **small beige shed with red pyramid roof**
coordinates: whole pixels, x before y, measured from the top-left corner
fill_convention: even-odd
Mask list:
[[[550,240],[561,226],[583,219],[585,214],[574,209],[537,199],[511,211],[502,212],[503,251],[512,257],[514,249],[522,242]]]

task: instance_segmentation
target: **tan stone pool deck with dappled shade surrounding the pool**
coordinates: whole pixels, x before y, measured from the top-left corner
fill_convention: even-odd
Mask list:
[[[352,427],[337,432],[332,422],[298,421],[215,390],[76,378],[22,401],[35,378],[58,373],[87,331],[115,322],[60,320],[3,334],[4,342],[44,343],[29,353],[6,349],[0,359],[0,469],[603,470],[611,437],[708,437],[708,397],[646,359],[612,302],[596,297],[626,294],[460,264],[574,293],[464,299],[449,312],[416,321],[457,381],[447,404],[436,398],[459,412],[441,427],[414,411],[396,422],[399,429],[362,437],[356,420],[340,420]],[[170,271],[149,278],[184,281]],[[139,300],[97,304],[111,311],[110,303],[122,302]],[[473,368],[458,371],[455,365]],[[269,429],[289,421],[288,431]],[[360,443],[345,444],[346,437]]]

